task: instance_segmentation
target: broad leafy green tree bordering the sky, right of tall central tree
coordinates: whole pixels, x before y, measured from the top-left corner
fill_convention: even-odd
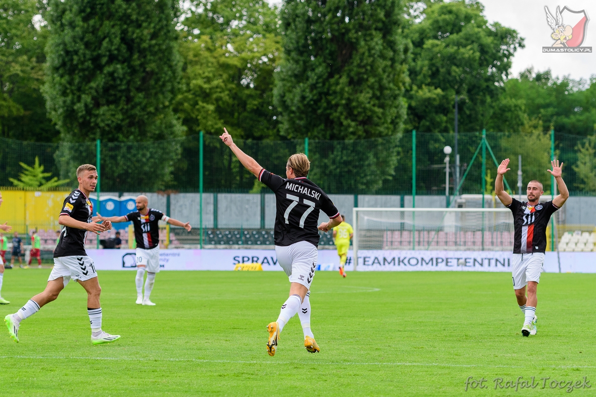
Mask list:
[[[502,123],[501,113],[515,108],[501,103],[501,93],[523,39],[516,30],[490,24],[483,10],[476,0],[427,2],[423,15],[411,19],[408,129],[453,132],[455,95],[460,131]]]

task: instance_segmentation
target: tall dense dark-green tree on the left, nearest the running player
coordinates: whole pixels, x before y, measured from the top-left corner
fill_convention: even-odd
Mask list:
[[[50,0],[49,6],[44,93],[63,142],[182,136],[172,111],[181,73],[175,2]],[[103,176],[127,180],[134,167],[135,174],[151,174],[153,182],[146,189],[162,189],[171,179],[179,157],[176,141],[144,152],[119,147],[112,154],[116,161],[102,164]],[[57,153],[57,159],[72,159],[66,170],[80,163],[75,156]]]

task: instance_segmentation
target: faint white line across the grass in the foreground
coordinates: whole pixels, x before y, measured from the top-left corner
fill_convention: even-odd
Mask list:
[[[300,361],[241,361],[241,360],[201,360],[198,358],[130,358],[130,357],[58,357],[58,356],[0,356],[4,358],[19,358],[24,360],[108,360],[108,361],[173,361],[173,362],[206,362],[213,364],[303,364],[303,365],[403,365],[418,367],[462,367],[462,368],[596,368],[596,365],[483,365],[483,364],[445,364],[439,362],[300,362]],[[272,359],[274,360],[274,359]]]

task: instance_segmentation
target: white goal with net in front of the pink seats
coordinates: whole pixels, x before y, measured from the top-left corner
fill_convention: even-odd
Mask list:
[[[358,251],[512,251],[507,208],[354,208],[354,268]]]

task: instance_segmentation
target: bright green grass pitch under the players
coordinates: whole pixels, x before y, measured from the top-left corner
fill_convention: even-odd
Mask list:
[[[12,313],[41,291],[49,269],[6,270]],[[596,275],[542,274],[538,335],[522,337],[508,273],[318,272],[312,329],[298,316],[266,353],[266,325],[289,290],[282,272],[169,271],[135,305],[135,273],[100,271],[103,329],[92,346],[86,295],[71,283],[21,323],[20,343],[0,337],[0,395],[26,396],[452,396],[561,395],[551,380],[596,382]],[[2,324],[4,327],[4,324]],[[485,389],[464,382],[486,379]],[[493,379],[535,377],[535,389],[494,389]],[[542,389],[542,377],[550,377]],[[573,390],[587,395],[592,389]]]

